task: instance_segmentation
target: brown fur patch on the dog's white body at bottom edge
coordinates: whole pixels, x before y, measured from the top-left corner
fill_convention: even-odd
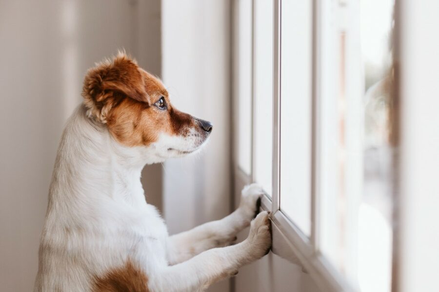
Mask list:
[[[94,292],[149,292],[148,277],[130,260],[123,267],[95,277]]]

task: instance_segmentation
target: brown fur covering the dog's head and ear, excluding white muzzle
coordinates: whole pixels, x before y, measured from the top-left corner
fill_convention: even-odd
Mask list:
[[[126,146],[148,146],[159,133],[186,135],[195,119],[172,107],[160,79],[123,53],[88,71],[82,90],[89,114]],[[166,110],[154,104],[163,97]]]

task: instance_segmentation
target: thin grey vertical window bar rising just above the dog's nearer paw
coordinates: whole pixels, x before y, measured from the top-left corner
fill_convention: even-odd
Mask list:
[[[281,0],[275,0],[273,5],[273,214],[280,209],[280,6]]]

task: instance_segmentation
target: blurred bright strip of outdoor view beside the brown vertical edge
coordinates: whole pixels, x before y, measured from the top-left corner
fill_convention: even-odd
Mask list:
[[[358,214],[358,276],[363,292],[391,291],[392,13],[394,0],[361,0],[364,64],[363,194]],[[379,264],[377,264],[379,263]]]

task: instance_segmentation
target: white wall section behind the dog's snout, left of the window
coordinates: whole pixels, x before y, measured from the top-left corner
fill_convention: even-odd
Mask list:
[[[230,211],[230,1],[162,1],[163,81],[180,110],[213,123],[196,157],[164,164],[169,232]],[[210,291],[228,291],[228,281]]]

